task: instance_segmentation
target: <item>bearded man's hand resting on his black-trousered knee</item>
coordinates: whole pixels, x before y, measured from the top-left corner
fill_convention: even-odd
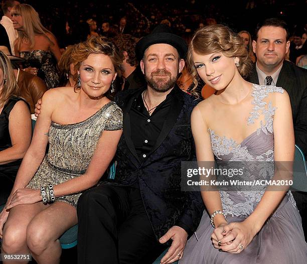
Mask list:
[[[164,244],[168,240],[172,239],[172,245],[168,252],[161,259],[161,263],[169,264],[181,259],[183,256],[183,250],[187,243],[188,233],[185,229],[174,225],[167,231],[167,233],[159,239],[159,242]]]

